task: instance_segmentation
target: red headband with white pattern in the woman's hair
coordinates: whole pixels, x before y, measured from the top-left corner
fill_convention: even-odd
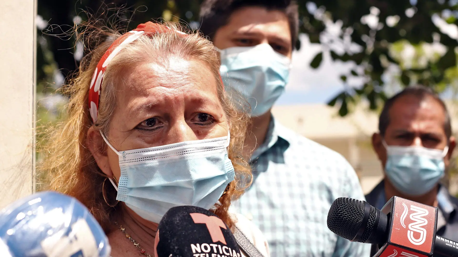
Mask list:
[[[97,68],[95,69],[94,75],[92,77],[91,85],[89,87],[89,113],[91,114],[93,123],[97,122],[98,100],[100,96],[102,80],[104,79],[107,66],[114,58],[114,56],[116,56],[116,54],[118,54],[127,44],[132,43],[143,34],[153,37],[158,33],[167,31],[171,31],[171,29],[167,26],[148,21],[147,23],[138,25],[136,29],[123,34],[111,44],[111,46],[105,52],[104,56],[102,56],[102,59],[100,59],[98,62]],[[181,31],[176,32],[186,35],[186,33]]]

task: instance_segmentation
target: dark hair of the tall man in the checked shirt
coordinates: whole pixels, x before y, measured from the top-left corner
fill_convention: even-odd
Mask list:
[[[294,49],[299,33],[299,11],[295,0],[205,0],[200,11],[200,31],[213,41],[216,31],[227,24],[232,13],[247,6],[260,6],[269,11],[283,11],[288,16]]]

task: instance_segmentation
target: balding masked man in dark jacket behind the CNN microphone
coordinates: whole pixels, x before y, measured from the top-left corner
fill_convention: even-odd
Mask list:
[[[458,199],[440,184],[456,146],[447,108],[431,89],[412,86],[388,99],[372,146],[384,179],[366,196],[381,209],[393,196],[438,207],[437,235],[458,240]]]

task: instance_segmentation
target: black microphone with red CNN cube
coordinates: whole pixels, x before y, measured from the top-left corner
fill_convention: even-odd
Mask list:
[[[338,236],[372,244],[374,257],[458,256],[458,242],[436,236],[437,208],[394,196],[382,208],[337,198],[327,227]]]

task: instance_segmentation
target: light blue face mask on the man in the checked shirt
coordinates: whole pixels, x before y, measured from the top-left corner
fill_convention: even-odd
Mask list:
[[[251,116],[270,110],[288,83],[291,61],[269,44],[218,49],[219,69],[229,96],[241,96],[251,107]],[[238,99],[235,99],[236,102]]]

